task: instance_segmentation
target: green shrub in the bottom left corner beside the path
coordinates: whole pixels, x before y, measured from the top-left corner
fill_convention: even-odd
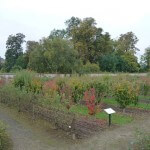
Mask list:
[[[10,150],[11,148],[12,143],[6,132],[5,125],[0,121],[0,150]]]

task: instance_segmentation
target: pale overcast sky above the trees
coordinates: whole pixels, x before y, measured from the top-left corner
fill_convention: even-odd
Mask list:
[[[95,18],[112,38],[133,31],[139,38],[138,56],[150,46],[150,0],[0,0],[0,56],[10,34],[39,40],[54,28],[65,28],[72,16]]]

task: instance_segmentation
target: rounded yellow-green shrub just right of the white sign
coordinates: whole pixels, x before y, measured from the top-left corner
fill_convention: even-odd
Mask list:
[[[126,80],[122,80],[114,86],[115,100],[121,108],[126,108],[130,104],[138,103],[139,87]]]

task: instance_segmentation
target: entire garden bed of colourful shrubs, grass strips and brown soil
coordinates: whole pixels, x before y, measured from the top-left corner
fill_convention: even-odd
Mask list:
[[[45,119],[57,128],[84,137],[107,128],[108,114],[104,108],[116,110],[112,124],[119,126],[130,123],[133,117],[122,113],[118,104],[123,104],[130,113],[149,112],[149,105],[138,102],[139,95],[148,95],[146,81],[149,78],[140,80],[140,83],[138,78],[85,76],[47,79],[22,71],[11,83],[1,82],[0,101],[18,111],[29,112],[33,118]],[[106,97],[111,97],[111,100]],[[134,106],[136,103],[138,105]]]

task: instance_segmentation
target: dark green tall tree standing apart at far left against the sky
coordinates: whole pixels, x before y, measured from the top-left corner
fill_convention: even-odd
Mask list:
[[[16,35],[10,35],[6,42],[6,53],[5,53],[5,69],[10,71],[16,64],[19,56],[23,55],[22,44],[25,42],[25,35],[17,33]]]

